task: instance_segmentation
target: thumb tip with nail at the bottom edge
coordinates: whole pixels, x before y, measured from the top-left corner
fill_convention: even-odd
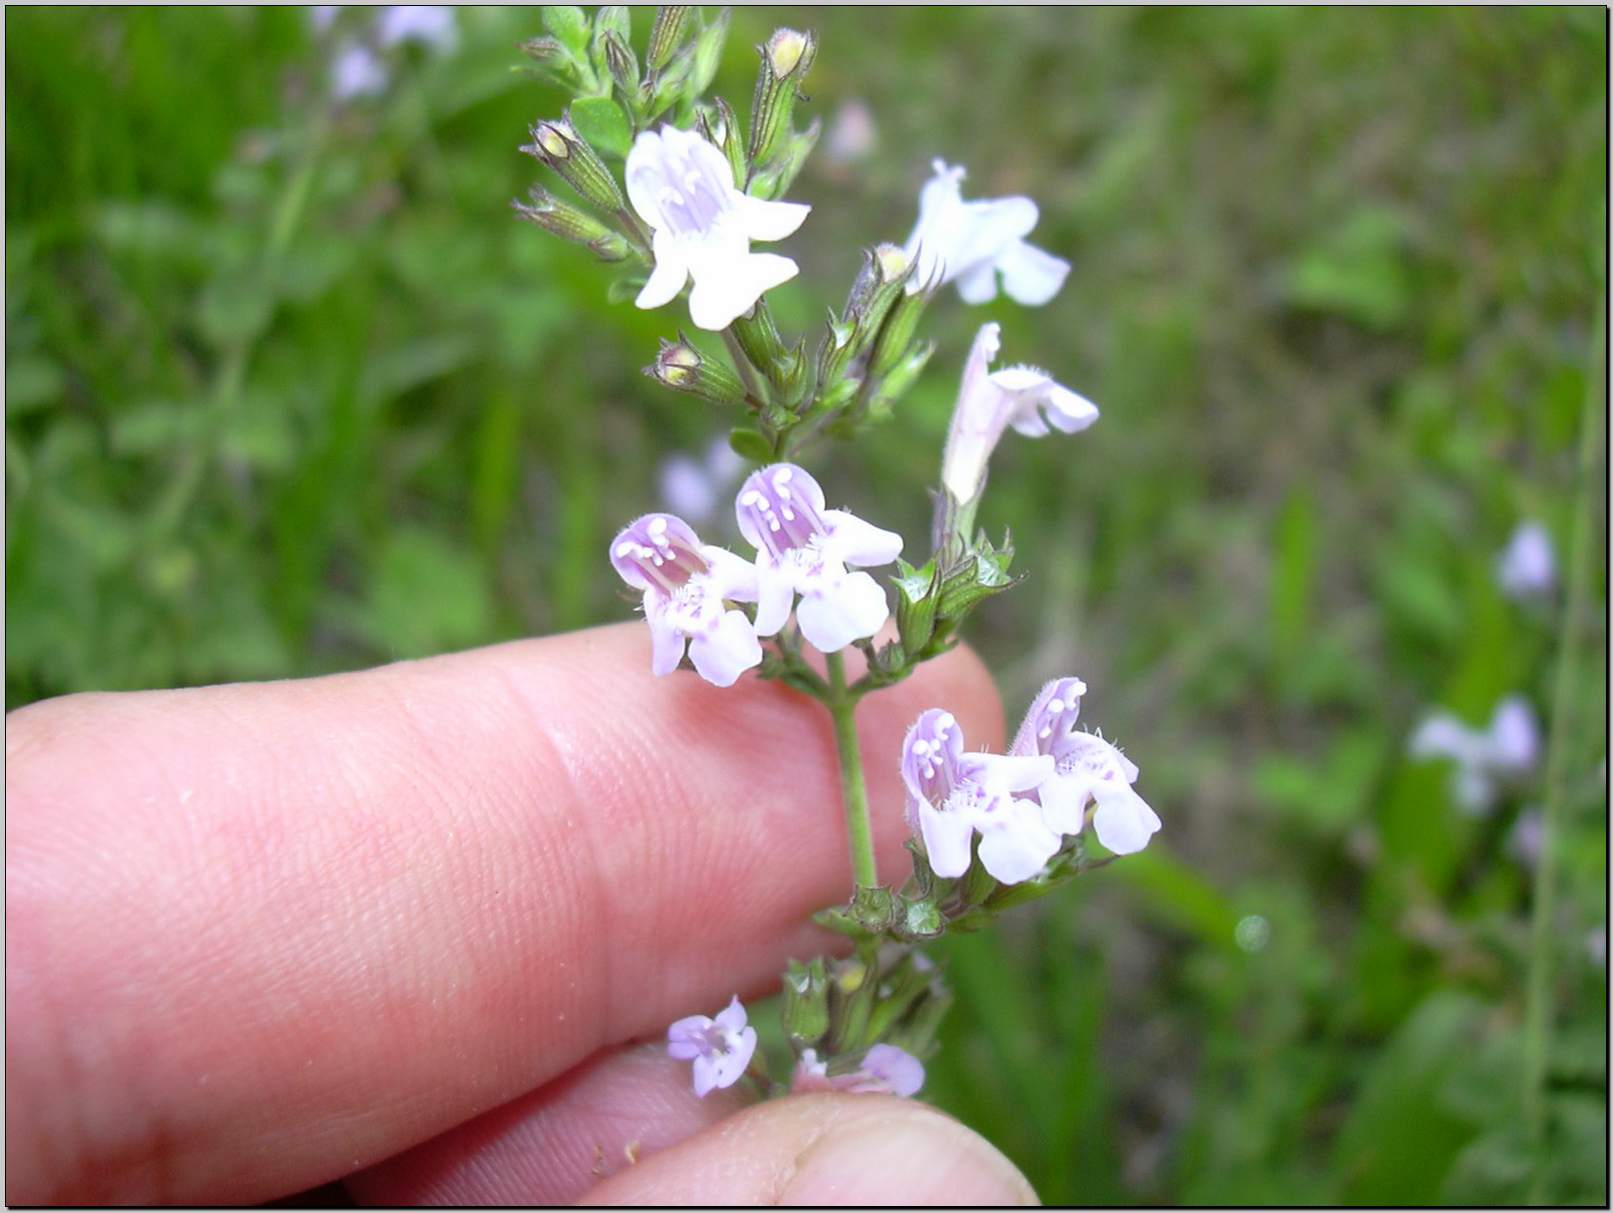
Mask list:
[[[586,1205],[1036,1205],[973,1129],[889,1095],[758,1103],[621,1171]]]

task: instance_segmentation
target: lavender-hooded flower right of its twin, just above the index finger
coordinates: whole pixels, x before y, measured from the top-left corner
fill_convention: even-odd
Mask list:
[[[889,565],[902,536],[845,510],[826,510],[823,489],[803,468],[773,463],[752,473],[734,502],[739,531],[756,548],[756,636],[790,618],[823,653],[837,653],[890,618],[886,592],[847,565]]]

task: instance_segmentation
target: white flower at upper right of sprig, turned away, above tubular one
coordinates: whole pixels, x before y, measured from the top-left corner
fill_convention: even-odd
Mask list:
[[[963,168],[934,163],[936,176],[918,195],[918,224],[907,255],[918,258],[908,290],[957,282],[965,303],[997,298],[997,274],[1008,298],[1026,306],[1047,303],[1065,284],[1069,261],[1026,242],[1036,227],[1036,203],[1024,197],[965,202]]]

